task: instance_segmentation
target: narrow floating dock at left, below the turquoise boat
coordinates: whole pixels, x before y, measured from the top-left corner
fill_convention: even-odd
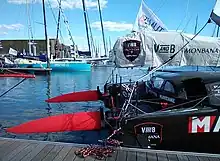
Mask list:
[[[21,72],[21,73],[30,73],[35,75],[46,75],[51,68],[0,68],[1,71],[11,71],[11,72]]]

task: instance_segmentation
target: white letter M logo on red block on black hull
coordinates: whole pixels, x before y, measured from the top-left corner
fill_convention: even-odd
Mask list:
[[[219,116],[190,117],[188,124],[189,133],[219,132]]]

